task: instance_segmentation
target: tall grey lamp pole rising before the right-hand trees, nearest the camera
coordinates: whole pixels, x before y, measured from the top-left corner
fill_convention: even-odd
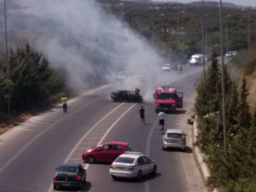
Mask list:
[[[222,116],[223,116],[223,141],[224,141],[224,151],[227,150],[226,147],[226,108],[225,108],[225,78],[224,78],[224,58],[223,58],[223,45],[222,45],[222,0],[220,0],[220,49],[221,49],[221,80],[222,80]]]

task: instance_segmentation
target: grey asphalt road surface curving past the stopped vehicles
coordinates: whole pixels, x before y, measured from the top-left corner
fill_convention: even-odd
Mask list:
[[[195,76],[202,67],[184,66],[183,73],[171,72],[158,86],[168,84],[184,93],[184,108],[166,116],[165,128],[182,128],[188,110],[187,101],[195,92]],[[154,87],[155,85],[153,85]],[[87,169],[87,182],[81,191],[123,192],[187,192],[187,178],[179,150],[162,150],[162,131],[158,125],[153,99],[145,101],[146,125],[141,124],[141,104],[113,102],[106,85],[68,101],[68,113],[56,106],[0,136],[0,191],[50,192],[55,168],[63,162],[81,163]],[[154,89],[152,88],[152,97]],[[142,91],[143,94],[143,91]],[[85,148],[108,141],[127,142],[156,160],[156,176],[142,181],[114,181],[109,164],[85,164],[81,160]],[[183,157],[182,157],[183,158]],[[70,190],[64,190],[70,191]],[[76,190],[71,190],[76,191]]]

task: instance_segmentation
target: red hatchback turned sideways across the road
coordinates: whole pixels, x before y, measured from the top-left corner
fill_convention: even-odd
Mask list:
[[[131,151],[128,143],[109,142],[98,147],[86,149],[83,152],[83,160],[88,163],[110,162],[112,163],[119,155],[125,151]]]

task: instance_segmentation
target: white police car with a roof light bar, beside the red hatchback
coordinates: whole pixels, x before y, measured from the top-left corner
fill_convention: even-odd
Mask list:
[[[110,165],[109,174],[113,179],[123,177],[140,180],[143,175],[155,175],[156,170],[154,160],[138,152],[125,152]]]

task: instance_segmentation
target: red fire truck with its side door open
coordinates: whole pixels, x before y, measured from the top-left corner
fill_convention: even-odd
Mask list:
[[[175,88],[169,86],[157,87],[154,93],[156,113],[161,110],[176,112],[176,108],[183,107],[183,93],[176,92]]]

